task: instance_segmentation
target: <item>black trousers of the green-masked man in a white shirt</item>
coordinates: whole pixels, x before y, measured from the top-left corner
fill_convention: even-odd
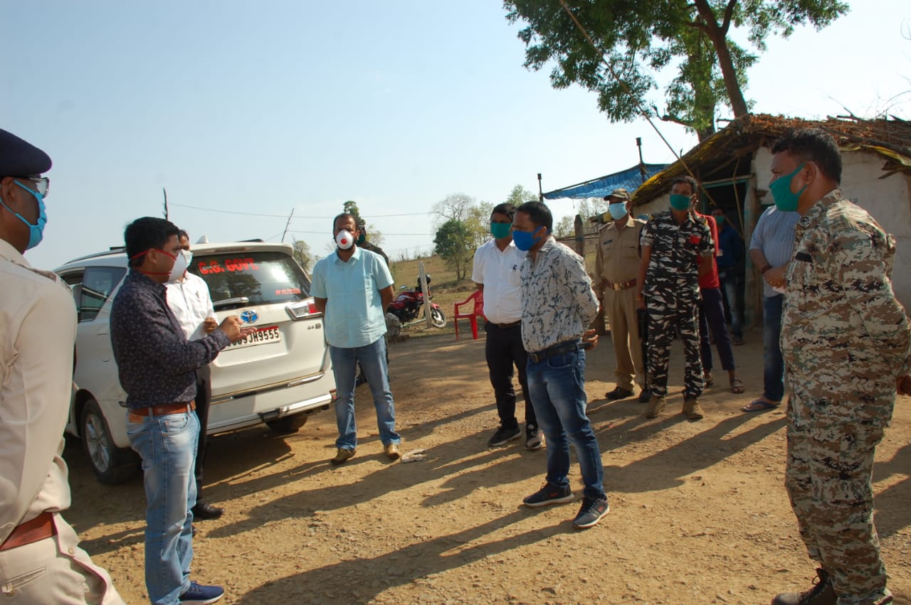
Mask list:
[[[525,396],[525,421],[537,427],[535,408],[528,396],[528,381],[525,368],[528,358],[522,346],[522,328],[501,329],[489,321],[484,325],[487,358],[487,369],[490,371],[490,385],[496,397],[496,413],[500,417],[500,426],[512,429],[518,426],[516,420],[516,389],[513,387],[513,366],[518,369],[518,382]]]

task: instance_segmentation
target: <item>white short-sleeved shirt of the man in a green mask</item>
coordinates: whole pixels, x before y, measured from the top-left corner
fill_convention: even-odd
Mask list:
[[[471,280],[484,284],[484,317],[495,324],[509,324],[522,318],[522,280],[519,269],[526,253],[512,241],[505,250],[491,239],[475,251]]]

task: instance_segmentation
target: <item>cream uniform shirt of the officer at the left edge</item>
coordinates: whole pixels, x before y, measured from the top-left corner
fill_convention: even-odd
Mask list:
[[[0,239],[0,542],[69,507],[63,429],[73,385],[76,305],[53,273]]]

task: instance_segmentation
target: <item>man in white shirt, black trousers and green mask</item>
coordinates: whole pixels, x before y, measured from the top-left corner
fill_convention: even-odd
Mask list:
[[[505,445],[522,434],[516,419],[516,389],[513,387],[513,365],[518,368],[518,382],[525,396],[525,447],[540,449],[541,430],[537,426],[535,408],[528,395],[525,367],[528,363],[522,345],[522,292],[519,267],[525,252],[512,240],[512,219],[516,207],[500,204],[490,213],[490,233],[493,239],[475,252],[471,279],[484,293],[484,317],[487,319],[485,356],[494,388],[496,413],[500,427],[487,441],[491,448]]]

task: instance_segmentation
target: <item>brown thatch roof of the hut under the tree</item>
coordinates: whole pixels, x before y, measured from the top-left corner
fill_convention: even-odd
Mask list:
[[[732,120],[714,135],[693,147],[666,170],[652,176],[633,194],[634,205],[645,204],[670,190],[675,176],[687,174],[711,181],[749,176],[752,154],[794,127],[818,127],[830,133],[843,151],[863,150],[883,159],[885,178],[896,172],[911,174],[911,122],[897,118],[866,120],[854,116],[804,120],[796,117],[755,114]]]

